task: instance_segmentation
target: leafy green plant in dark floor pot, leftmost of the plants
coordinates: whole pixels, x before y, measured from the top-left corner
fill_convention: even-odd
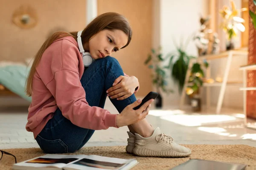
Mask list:
[[[164,67],[162,63],[165,59],[161,53],[161,47],[159,47],[157,51],[152,48],[151,53],[148,54],[148,58],[144,62],[145,65],[148,65],[148,68],[153,70],[152,83],[159,94],[155,100],[156,108],[162,108],[163,106],[161,91],[167,94],[173,92],[172,89],[167,88],[168,83],[166,81],[167,76],[165,71],[167,68]]]

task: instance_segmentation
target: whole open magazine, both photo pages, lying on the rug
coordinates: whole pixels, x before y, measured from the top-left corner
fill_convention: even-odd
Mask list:
[[[119,159],[97,155],[47,154],[13,165],[13,170],[129,170],[136,159]]]

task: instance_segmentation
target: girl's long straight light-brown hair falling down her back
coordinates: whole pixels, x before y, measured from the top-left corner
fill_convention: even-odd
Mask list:
[[[132,37],[132,31],[131,27],[126,20],[126,18],[118,13],[115,12],[108,12],[99,15],[96,17],[93,21],[91,21],[86,28],[82,31],[81,39],[82,43],[89,42],[90,38],[93,37],[93,35],[97,34],[99,31],[102,31],[104,29],[108,30],[114,30],[119,29],[123,31],[128,36],[128,42],[126,45],[122,48],[125,48],[130,42]],[[49,37],[44,44],[41,46],[37,54],[35,55],[34,62],[30,68],[29,75],[26,79],[26,95],[32,96],[32,81],[33,76],[36,71],[36,67],[38,66],[38,63],[40,62],[40,59],[44,53],[44,51],[49,47],[49,45],[52,44],[55,40],[58,40],[63,37],[72,36],[77,40],[77,31],[75,32],[65,32],[65,31],[58,31],[52,34],[51,37]]]

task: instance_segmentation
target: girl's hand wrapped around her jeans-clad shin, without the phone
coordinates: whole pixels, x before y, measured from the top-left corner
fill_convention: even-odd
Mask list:
[[[113,87],[106,92],[111,99],[123,100],[134,94],[135,88],[139,85],[136,77],[119,76],[115,79]]]

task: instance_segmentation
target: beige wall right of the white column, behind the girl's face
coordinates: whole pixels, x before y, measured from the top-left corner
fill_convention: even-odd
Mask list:
[[[112,56],[118,59],[126,74],[139,79],[140,90],[136,96],[145,96],[152,90],[151,70],[144,65],[152,42],[152,0],[98,0],[97,3],[98,14],[117,12],[130,22],[131,43]]]

